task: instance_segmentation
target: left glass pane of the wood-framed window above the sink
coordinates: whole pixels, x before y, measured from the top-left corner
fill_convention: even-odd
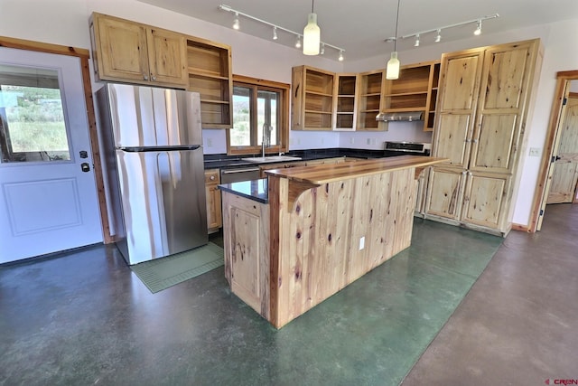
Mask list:
[[[251,146],[251,94],[247,87],[233,87],[233,128],[230,146]]]

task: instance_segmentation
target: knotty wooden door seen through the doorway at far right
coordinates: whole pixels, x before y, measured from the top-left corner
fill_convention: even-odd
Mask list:
[[[573,202],[578,183],[578,95],[570,94],[546,203]]]

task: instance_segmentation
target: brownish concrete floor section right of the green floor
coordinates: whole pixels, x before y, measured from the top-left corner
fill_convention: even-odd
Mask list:
[[[547,205],[542,231],[509,233],[403,385],[557,379],[578,382],[578,204]]]

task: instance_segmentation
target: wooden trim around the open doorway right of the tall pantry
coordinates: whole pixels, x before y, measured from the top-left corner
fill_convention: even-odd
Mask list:
[[[565,90],[568,83],[572,80],[578,80],[578,70],[574,71],[558,71],[556,72],[556,88],[554,94],[554,102],[552,110],[550,111],[550,120],[548,123],[548,131],[545,137],[545,146],[540,165],[540,172],[536,184],[536,193],[534,194],[534,202],[532,203],[532,212],[530,213],[530,222],[527,231],[539,231],[542,226],[542,218],[544,217],[545,200],[547,198],[547,191],[550,189],[548,175],[552,163],[552,155],[554,155],[554,147],[556,137],[559,136],[558,127],[560,126],[560,119],[562,116],[563,102]],[[542,214],[540,214],[542,212]]]

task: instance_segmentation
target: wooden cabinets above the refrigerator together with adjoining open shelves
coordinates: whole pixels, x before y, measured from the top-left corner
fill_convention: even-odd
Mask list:
[[[96,80],[199,92],[202,127],[233,126],[230,46],[98,13],[90,31]]]

